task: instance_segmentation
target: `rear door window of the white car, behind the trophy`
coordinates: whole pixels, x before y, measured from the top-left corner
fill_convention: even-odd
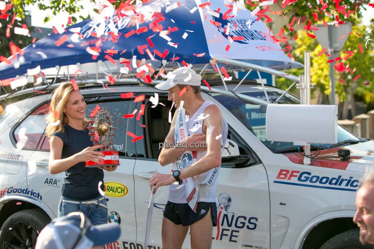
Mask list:
[[[129,156],[127,153],[128,149],[126,148],[126,139],[129,140],[131,138],[129,138],[127,135],[128,122],[131,119],[123,118],[123,115],[129,113],[129,108],[132,102],[131,100],[132,99],[124,100],[120,95],[85,97],[87,104],[87,118],[96,108],[96,105],[98,105],[99,108],[107,109],[107,111],[110,112],[114,125],[113,150],[117,150],[119,152],[119,156]],[[128,143],[131,143],[131,140],[127,141],[127,144]],[[38,149],[49,150],[49,139],[46,136],[43,136]]]

